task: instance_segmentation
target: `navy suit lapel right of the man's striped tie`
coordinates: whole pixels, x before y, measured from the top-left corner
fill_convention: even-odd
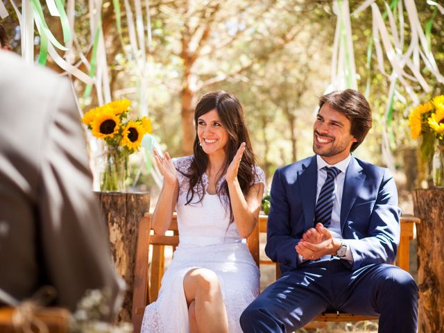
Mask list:
[[[341,230],[345,225],[345,220],[358,196],[359,188],[364,183],[366,175],[362,173],[362,167],[359,165],[355,157],[352,156],[345,172],[344,187],[341,202]]]

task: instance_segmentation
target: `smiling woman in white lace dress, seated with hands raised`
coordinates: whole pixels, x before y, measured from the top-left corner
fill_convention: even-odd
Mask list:
[[[206,94],[194,114],[194,155],[155,152],[164,185],[153,215],[162,234],[177,208],[180,243],[145,309],[142,332],[242,332],[242,311],[259,293],[259,270],[244,239],[264,191],[239,101]]]

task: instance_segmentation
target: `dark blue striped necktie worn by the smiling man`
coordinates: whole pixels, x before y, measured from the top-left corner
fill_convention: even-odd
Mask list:
[[[327,171],[327,179],[322,185],[319,193],[316,209],[314,210],[314,224],[322,223],[324,227],[328,227],[332,221],[332,211],[334,202],[334,178],[339,175],[341,170],[332,167],[323,167]]]

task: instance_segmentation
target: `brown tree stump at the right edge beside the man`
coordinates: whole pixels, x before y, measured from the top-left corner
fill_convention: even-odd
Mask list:
[[[418,233],[419,332],[444,327],[444,189],[413,190]]]

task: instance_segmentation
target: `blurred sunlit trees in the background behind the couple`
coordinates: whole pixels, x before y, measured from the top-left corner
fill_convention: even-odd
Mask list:
[[[146,87],[148,115],[153,122],[153,135],[173,157],[189,155],[194,141],[194,105],[206,92],[224,89],[236,95],[244,111],[257,163],[271,180],[277,167],[312,154],[312,123],[318,97],[330,83],[332,49],[337,17],[331,0],[157,0],[142,1],[149,12],[151,31],[145,45],[134,45],[135,34],[128,24],[128,10],[116,15],[116,3],[135,9],[140,1],[103,1],[101,24],[113,100],[130,99],[137,112],[141,87]],[[349,1],[350,11],[364,1]],[[12,13],[10,3],[4,1]],[[384,1],[375,1],[384,10]],[[398,1],[391,1],[395,6]],[[444,73],[443,15],[427,1],[416,1],[423,28],[428,29],[429,47],[438,69]],[[63,40],[60,19],[51,17],[42,3],[46,23],[58,40]],[[91,11],[89,2],[75,1],[75,32],[78,47],[91,60]],[[409,39],[407,13],[405,39]],[[120,22],[119,22],[119,18]],[[411,213],[409,189],[427,186],[427,166],[420,162],[418,142],[410,138],[408,112],[416,107],[402,86],[393,100],[393,112],[386,117],[390,82],[376,70],[374,49],[369,53],[372,37],[370,8],[352,15],[352,44],[355,53],[357,87],[366,94],[373,108],[373,129],[355,155],[386,166],[382,153],[382,137],[388,135],[393,155],[395,176],[400,187],[400,205]],[[10,32],[12,50],[21,53],[20,28],[17,17],[1,21]],[[139,22],[137,22],[139,24]],[[145,30],[148,30],[146,28]],[[35,52],[39,51],[36,32]],[[146,46],[146,47],[145,47]],[[406,48],[408,43],[406,43]],[[139,66],[141,53],[146,66]],[[59,52],[62,55],[62,52]],[[36,57],[37,58],[37,57]],[[75,63],[78,59],[73,60]],[[87,71],[79,62],[79,69]],[[51,57],[46,65],[62,71]],[[391,72],[386,63],[386,71]],[[422,92],[413,83],[420,101],[443,94],[443,85],[427,70],[422,75],[432,88]],[[144,77],[145,85],[140,85]],[[85,94],[87,87],[74,80],[82,112],[98,105],[96,91]],[[81,113],[81,112],[80,112]],[[144,165],[142,155],[132,157],[133,176]],[[146,173],[135,183],[135,189],[158,191]],[[268,182],[269,183],[269,182]]]

